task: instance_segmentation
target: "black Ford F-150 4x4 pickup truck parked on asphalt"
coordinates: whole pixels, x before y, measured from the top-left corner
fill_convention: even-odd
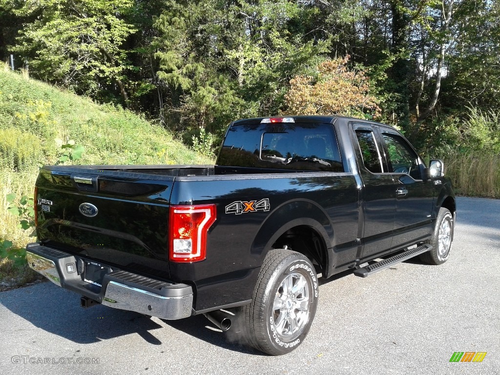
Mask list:
[[[45,165],[35,207],[28,263],[83,306],[239,318],[275,355],[306,336],[318,275],[443,263],[455,223],[440,160],[337,116],[233,121],[215,165]]]

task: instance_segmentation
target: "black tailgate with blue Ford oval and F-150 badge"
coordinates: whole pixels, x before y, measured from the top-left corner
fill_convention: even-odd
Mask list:
[[[44,167],[36,181],[42,244],[99,263],[168,279],[173,177]]]

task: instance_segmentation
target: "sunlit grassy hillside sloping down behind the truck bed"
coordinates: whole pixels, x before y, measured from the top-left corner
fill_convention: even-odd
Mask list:
[[[57,162],[68,140],[84,147],[73,160],[78,164],[210,162],[130,111],[0,69],[0,242],[23,247],[33,240],[29,230],[17,227],[5,196],[32,196],[38,165]]]

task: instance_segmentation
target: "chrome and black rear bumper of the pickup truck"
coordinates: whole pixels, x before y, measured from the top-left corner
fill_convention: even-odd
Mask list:
[[[85,259],[69,253],[29,243],[29,266],[54,284],[92,298],[106,306],[140,312],[163,319],[191,316],[193,292],[190,285],[155,280],[131,272],[110,269],[100,281],[84,281],[78,264]]]

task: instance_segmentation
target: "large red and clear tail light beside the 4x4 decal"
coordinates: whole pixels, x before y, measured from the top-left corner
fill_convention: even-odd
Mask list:
[[[215,204],[171,205],[169,259],[194,262],[206,257],[206,233],[215,221]]]

